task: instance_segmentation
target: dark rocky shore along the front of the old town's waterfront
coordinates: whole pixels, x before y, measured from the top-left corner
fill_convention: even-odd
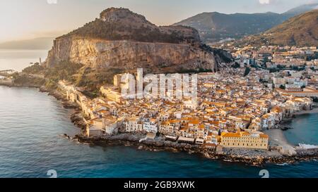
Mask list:
[[[115,136],[99,136],[93,138],[78,137],[78,141],[90,143],[98,146],[136,146],[139,150],[146,151],[171,151],[171,152],[186,152],[203,155],[211,160],[223,160],[225,162],[241,162],[249,165],[264,165],[266,163],[282,164],[294,163],[298,161],[313,160],[318,158],[318,149],[302,150],[293,156],[281,155],[277,150],[248,150],[248,149],[230,149],[223,148],[221,151],[216,151],[211,148],[204,148],[201,145],[189,143],[177,143],[165,141],[164,137],[156,139],[146,139],[143,134],[117,134]]]

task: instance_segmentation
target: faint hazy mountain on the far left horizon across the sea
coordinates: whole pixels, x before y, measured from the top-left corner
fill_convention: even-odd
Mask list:
[[[0,49],[43,49],[49,50],[52,47],[54,37],[40,37],[20,41],[7,41],[0,43]]]

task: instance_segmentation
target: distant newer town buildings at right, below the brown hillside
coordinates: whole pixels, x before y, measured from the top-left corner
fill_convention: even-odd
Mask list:
[[[234,46],[223,44],[240,68],[254,67],[269,89],[297,97],[318,98],[317,46]]]

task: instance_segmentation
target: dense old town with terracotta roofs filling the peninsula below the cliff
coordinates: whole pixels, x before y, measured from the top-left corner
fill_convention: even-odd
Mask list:
[[[68,82],[59,82],[59,87],[66,98],[81,106],[88,136],[151,133],[206,148],[267,149],[269,136],[262,131],[299,110],[312,108],[312,99],[286,94],[262,82],[278,80],[269,70],[252,69],[246,77],[242,73],[243,69],[225,68],[199,74],[196,103],[187,98],[124,99],[120,75],[93,100]]]

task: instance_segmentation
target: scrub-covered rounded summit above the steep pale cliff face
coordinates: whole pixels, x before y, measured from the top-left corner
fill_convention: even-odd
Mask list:
[[[196,43],[200,41],[198,32],[192,27],[157,27],[143,15],[126,8],[107,8],[100,18],[70,32],[65,37],[88,37],[112,41],[131,40],[160,43]]]

